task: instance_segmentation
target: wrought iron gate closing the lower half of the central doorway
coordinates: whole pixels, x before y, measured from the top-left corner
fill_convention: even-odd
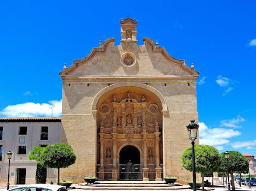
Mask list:
[[[120,180],[129,181],[129,180],[141,180],[141,170],[140,164],[133,164],[131,160],[127,164],[120,164]]]

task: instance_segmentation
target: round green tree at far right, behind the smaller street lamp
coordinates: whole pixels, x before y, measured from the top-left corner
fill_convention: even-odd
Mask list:
[[[231,175],[232,190],[235,190],[234,173],[246,173],[248,171],[248,160],[238,151],[229,151],[229,159],[226,160],[225,152],[220,154],[221,165],[219,172],[227,172],[227,162],[229,164],[229,174]]]

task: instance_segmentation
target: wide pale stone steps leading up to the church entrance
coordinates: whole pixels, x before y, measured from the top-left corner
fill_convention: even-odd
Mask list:
[[[167,184],[164,181],[96,181],[94,184],[72,184],[76,189],[92,190],[191,190],[183,184]]]

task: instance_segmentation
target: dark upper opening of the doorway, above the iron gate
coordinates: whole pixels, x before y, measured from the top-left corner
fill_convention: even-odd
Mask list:
[[[133,164],[140,164],[140,152],[138,148],[134,146],[125,146],[120,151],[120,164],[127,164],[131,162]]]

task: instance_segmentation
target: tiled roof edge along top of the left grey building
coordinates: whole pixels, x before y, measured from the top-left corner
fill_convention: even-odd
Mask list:
[[[0,122],[61,122],[61,117],[6,117]]]

